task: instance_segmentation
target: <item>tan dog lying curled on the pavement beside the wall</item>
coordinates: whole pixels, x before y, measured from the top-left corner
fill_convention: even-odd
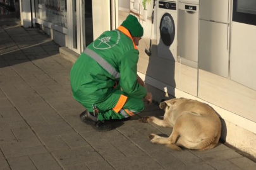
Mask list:
[[[153,122],[162,127],[173,127],[171,135],[160,137],[150,134],[150,142],[165,144],[171,149],[212,149],[221,136],[221,120],[216,112],[207,104],[197,100],[178,98],[160,103],[165,110],[164,120],[154,116],[143,117],[142,122]]]

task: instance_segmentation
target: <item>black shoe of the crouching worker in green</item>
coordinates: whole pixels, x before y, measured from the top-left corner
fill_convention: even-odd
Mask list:
[[[93,116],[88,110],[85,110],[80,114],[80,119],[83,123],[91,125],[97,131],[109,131],[114,128],[110,122],[99,121],[97,116]]]

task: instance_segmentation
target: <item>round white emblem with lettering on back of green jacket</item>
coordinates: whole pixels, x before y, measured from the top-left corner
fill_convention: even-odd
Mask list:
[[[111,40],[112,37],[99,37],[97,40],[94,41],[92,44],[94,48],[99,50],[106,50],[108,48],[112,48],[116,45],[118,45],[118,42],[120,40],[120,32],[117,30],[118,33],[118,39],[117,40]]]

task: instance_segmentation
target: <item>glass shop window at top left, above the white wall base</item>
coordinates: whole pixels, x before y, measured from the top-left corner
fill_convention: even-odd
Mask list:
[[[35,17],[59,26],[68,27],[67,0],[36,0]]]

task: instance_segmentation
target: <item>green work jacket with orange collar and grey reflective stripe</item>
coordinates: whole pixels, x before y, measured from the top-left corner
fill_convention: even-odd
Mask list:
[[[70,72],[73,97],[82,105],[104,101],[118,86],[134,97],[144,98],[147,91],[137,82],[138,50],[125,27],[105,31],[90,43]]]

